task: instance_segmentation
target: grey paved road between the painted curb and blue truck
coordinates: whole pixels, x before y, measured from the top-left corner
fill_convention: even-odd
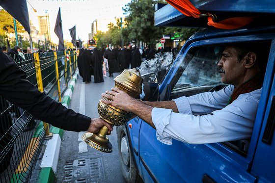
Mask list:
[[[114,77],[120,73],[114,73]],[[108,75],[108,73],[107,73]],[[85,84],[79,77],[69,108],[91,118],[98,117],[97,105],[101,94],[114,86],[114,77],[103,83]],[[109,135],[112,153],[103,153],[87,146],[84,132],[64,131],[56,173],[56,183],[126,183],[119,165],[116,131]]]

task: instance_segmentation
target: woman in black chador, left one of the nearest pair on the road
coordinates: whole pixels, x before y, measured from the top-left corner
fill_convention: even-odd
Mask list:
[[[82,80],[85,83],[91,82],[93,73],[92,52],[85,50],[83,53]]]

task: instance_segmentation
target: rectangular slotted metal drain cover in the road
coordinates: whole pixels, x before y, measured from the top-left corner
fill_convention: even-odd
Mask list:
[[[101,155],[68,160],[64,166],[64,173],[62,183],[96,183],[105,179]]]

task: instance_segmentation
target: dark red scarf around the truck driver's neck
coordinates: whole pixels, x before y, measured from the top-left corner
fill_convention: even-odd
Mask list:
[[[241,84],[241,86],[239,86],[238,88],[234,88],[233,93],[227,105],[231,104],[241,94],[249,93],[254,90],[260,89],[261,87],[263,87],[263,82],[264,82],[264,75],[262,75],[261,73],[248,79],[243,84]]]

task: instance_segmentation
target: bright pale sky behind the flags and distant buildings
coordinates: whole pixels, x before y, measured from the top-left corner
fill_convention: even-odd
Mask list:
[[[58,44],[55,21],[60,7],[63,39],[72,40],[69,29],[76,26],[76,38],[87,43],[91,23],[96,19],[125,17],[122,7],[131,0],[27,0],[29,19],[39,29],[37,16],[49,14],[51,39]],[[35,9],[37,12],[35,12]]]

